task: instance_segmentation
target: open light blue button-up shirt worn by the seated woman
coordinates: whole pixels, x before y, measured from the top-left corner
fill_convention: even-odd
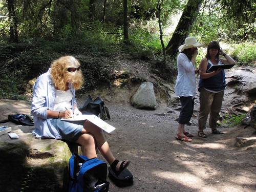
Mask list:
[[[56,97],[56,89],[54,88],[54,82],[51,79],[50,70],[47,73],[40,75],[34,84],[33,99],[31,105],[31,115],[34,116],[35,130],[32,132],[37,138],[47,137],[54,139],[62,139],[58,131],[51,124],[52,118],[47,118],[47,110],[53,110]],[[75,90],[71,88],[73,94],[71,105],[72,111],[74,111]]]

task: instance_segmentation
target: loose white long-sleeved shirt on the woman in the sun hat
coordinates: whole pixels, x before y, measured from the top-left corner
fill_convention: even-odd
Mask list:
[[[178,76],[176,79],[175,93],[179,97],[195,97],[196,77],[195,67],[184,53],[177,57]]]

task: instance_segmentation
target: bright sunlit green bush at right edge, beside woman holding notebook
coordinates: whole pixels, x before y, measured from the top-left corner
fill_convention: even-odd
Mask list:
[[[238,65],[254,66],[256,65],[256,46],[255,44],[245,42],[243,44],[232,45],[234,50],[232,56],[238,60]]]

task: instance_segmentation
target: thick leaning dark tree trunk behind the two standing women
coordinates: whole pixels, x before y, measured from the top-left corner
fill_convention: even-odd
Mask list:
[[[177,53],[179,46],[182,45],[194,24],[202,2],[203,0],[188,0],[175,32],[165,48],[167,54]]]

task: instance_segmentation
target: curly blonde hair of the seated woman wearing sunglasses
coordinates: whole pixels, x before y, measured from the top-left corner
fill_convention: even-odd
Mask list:
[[[78,68],[80,63],[73,56],[63,56],[51,64],[51,77],[57,90],[66,91],[67,83],[71,83],[75,90],[81,88],[83,76],[81,70],[69,72],[68,68]]]

